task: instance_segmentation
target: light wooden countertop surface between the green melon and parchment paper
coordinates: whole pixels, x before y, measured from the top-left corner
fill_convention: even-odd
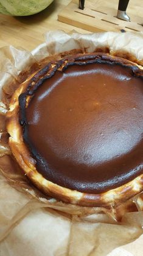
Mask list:
[[[54,0],[43,12],[29,17],[11,17],[0,14],[0,47],[13,45],[33,50],[44,42],[43,34],[49,30],[63,29],[68,32],[75,29],[78,32],[87,33],[83,29],[57,20],[58,13],[69,2],[70,0]]]

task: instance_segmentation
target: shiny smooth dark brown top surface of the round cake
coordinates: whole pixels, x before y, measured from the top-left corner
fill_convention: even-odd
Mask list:
[[[100,193],[143,173],[143,81],[119,64],[56,71],[26,108],[24,140],[49,181]]]

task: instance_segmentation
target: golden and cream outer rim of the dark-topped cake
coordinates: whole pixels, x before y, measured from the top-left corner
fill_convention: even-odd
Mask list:
[[[111,57],[105,54],[94,53],[92,56],[102,55],[105,59],[110,59],[112,61],[120,61],[128,66],[138,66],[133,62],[127,61],[122,58]],[[82,55],[76,55],[82,56]],[[88,56],[85,55],[85,56]],[[90,54],[91,56],[91,54]],[[64,58],[63,62],[72,61],[75,56],[68,56]],[[51,64],[51,69],[54,67],[54,62]],[[142,67],[138,66],[141,70]],[[143,190],[143,175],[138,176],[130,183],[124,186],[117,187],[116,189],[109,190],[108,192],[102,194],[86,194],[78,192],[76,190],[67,189],[65,187],[58,186],[57,184],[47,181],[40,173],[38,173],[35,168],[35,160],[30,156],[29,149],[23,141],[23,130],[19,124],[19,103],[18,97],[23,93],[30,83],[32,77],[38,72],[33,73],[24,83],[22,83],[12,96],[10,102],[10,110],[7,113],[7,131],[10,134],[9,145],[12,149],[13,156],[15,156],[16,161],[19,166],[23,169],[25,175],[32,181],[35,186],[38,187],[44,194],[51,195],[66,203],[72,203],[81,206],[100,206],[100,207],[111,207],[120,205],[127,201],[128,199],[134,197],[134,195],[139,194]],[[46,74],[44,74],[46,75]]]

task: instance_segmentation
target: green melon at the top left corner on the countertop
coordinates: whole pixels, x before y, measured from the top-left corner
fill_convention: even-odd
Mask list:
[[[12,16],[32,15],[44,10],[53,0],[0,0],[0,13]]]

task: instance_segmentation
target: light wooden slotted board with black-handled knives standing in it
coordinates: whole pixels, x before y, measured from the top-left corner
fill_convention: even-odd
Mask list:
[[[142,31],[143,0],[130,0],[127,13],[131,22],[117,18],[119,0],[85,0],[85,9],[78,9],[78,0],[72,0],[58,14],[58,20],[91,32]]]

